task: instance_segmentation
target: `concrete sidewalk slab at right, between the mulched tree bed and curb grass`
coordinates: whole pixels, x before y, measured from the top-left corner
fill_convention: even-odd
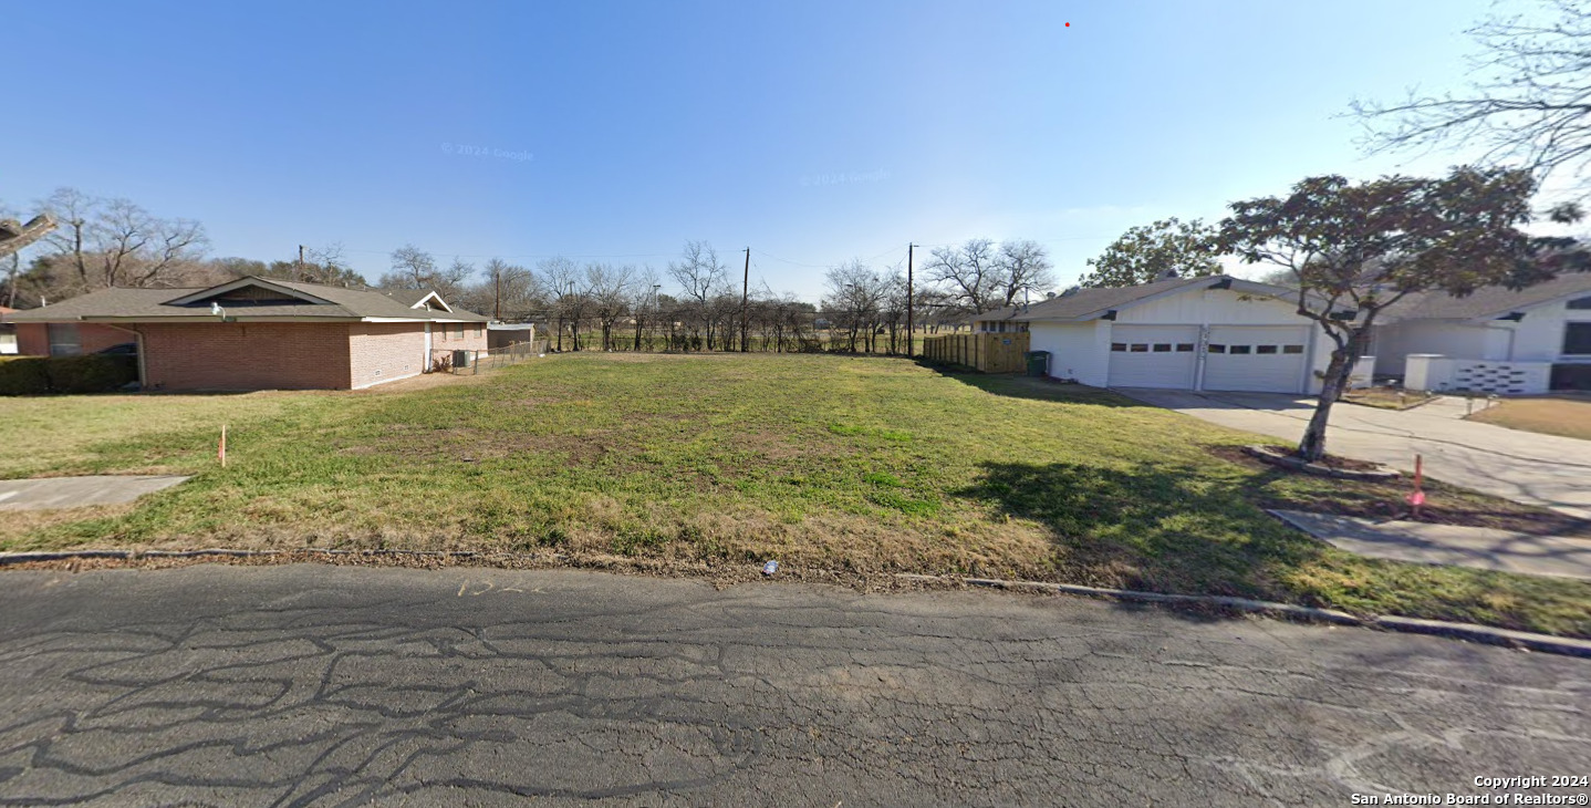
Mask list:
[[[1591,541],[1301,511],[1271,514],[1333,547],[1371,558],[1591,581]]]

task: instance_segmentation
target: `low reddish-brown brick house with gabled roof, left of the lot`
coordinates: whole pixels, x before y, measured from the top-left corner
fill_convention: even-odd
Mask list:
[[[434,291],[259,277],[204,289],[100,289],[5,321],[27,355],[132,342],[145,390],[360,390],[487,347],[487,318]]]

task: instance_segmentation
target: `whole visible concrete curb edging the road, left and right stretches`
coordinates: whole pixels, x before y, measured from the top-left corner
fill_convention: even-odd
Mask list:
[[[62,552],[0,552],[0,566],[30,561],[70,561],[78,558],[269,558],[280,555],[334,555],[334,557],[410,557],[410,558],[531,558],[522,554],[482,554],[476,550],[337,550],[337,549],[296,549],[296,550],[62,550]],[[1435,635],[1453,639],[1468,639],[1492,646],[1518,647],[1546,654],[1562,654],[1567,657],[1591,658],[1591,639],[1573,639],[1532,631],[1515,631],[1510,628],[1492,628],[1476,623],[1454,623],[1446,620],[1422,620],[1416,617],[1375,616],[1359,617],[1356,614],[1321,609],[1314,606],[1298,606],[1293,603],[1262,601],[1251,598],[1233,598],[1228,595],[1169,595],[1163,592],[1139,592],[1131,589],[1085,587],[1082,584],[1047,584],[1042,581],[1002,581],[993,577],[953,577],[924,576],[915,573],[896,573],[901,581],[961,584],[969,587],[1004,589],[1004,590],[1037,590],[1085,598],[1118,600],[1128,603],[1158,603],[1169,606],[1219,606],[1251,614],[1273,614],[1335,625],[1356,625],[1363,628],[1381,628],[1386,631],[1403,631],[1416,635]]]

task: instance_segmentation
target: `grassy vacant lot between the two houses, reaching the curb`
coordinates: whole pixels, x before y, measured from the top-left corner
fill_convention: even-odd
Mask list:
[[[188,471],[0,547],[428,547],[980,573],[1591,636],[1591,585],[1357,558],[1262,512],[1394,514],[1252,436],[1090,388],[901,359],[565,355],[383,393],[6,402],[0,476]],[[218,425],[231,466],[215,464]],[[1453,519],[1562,517],[1437,485]]]

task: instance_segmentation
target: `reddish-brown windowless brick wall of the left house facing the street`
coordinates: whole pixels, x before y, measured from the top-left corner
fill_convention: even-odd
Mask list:
[[[143,323],[153,390],[347,390],[348,323]]]

